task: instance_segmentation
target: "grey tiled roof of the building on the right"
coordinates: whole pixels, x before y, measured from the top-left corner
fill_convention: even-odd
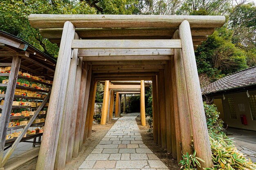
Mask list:
[[[256,66],[227,75],[202,88],[202,94],[256,84]]]

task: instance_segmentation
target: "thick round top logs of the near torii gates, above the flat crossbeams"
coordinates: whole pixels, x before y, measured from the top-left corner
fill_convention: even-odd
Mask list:
[[[65,21],[76,27],[81,39],[171,39],[182,21],[191,26],[196,48],[225,23],[225,16],[196,15],[52,15],[31,14],[29,23],[59,45]]]

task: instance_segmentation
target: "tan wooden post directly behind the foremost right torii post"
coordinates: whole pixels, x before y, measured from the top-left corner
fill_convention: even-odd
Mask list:
[[[175,31],[173,34],[174,39],[180,39],[179,31]],[[189,114],[189,100],[186,90],[186,80],[184,75],[184,66],[182,60],[181,49],[174,49],[174,57],[172,61],[173,72],[172,79],[175,79],[175,90],[177,91],[177,103],[179,105],[179,121],[180,125],[190,125],[190,114]],[[173,81],[174,83],[174,81]],[[191,126],[180,126],[181,142],[182,142],[182,152],[186,154],[188,152],[191,154],[191,142],[193,140]]]

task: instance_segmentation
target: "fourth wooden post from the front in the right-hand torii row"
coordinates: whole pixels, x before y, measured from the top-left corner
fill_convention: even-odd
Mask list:
[[[165,123],[166,123],[166,148],[168,153],[172,153],[172,130],[171,129],[171,91],[170,91],[170,75],[171,75],[171,70],[168,67],[168,64],[165,64],[165,69],[164,69],[164,84],[165,84],[165,95],[162,96],[165,99]],[[176,149],[176,148],[175,148]],[[172,154],[173,155],[173,154]],[[175,158],[175,157],[174,157]]]

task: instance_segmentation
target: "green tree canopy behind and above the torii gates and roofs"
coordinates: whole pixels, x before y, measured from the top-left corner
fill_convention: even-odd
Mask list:
[[[256,6],[246,0],[1,0],[0,30],[57,57],[56,44],[29,25],[31,13],[225,15],[226,24],[195,51],[202,85],[256,65]]]

